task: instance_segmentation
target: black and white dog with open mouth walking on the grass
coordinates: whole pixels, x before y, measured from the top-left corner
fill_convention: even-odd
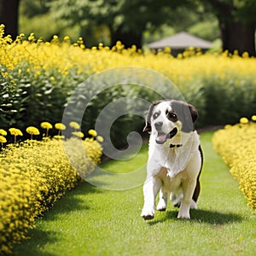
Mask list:
[[[154,102],[143,131],[150,133],[147,179],[143,186],[144,206],[141,216],[154,218],[154,203],[165,211],[167,198],[179,207],[177,218],[190,218],[189,208],[196,208],[200,193],[203,162],[200,140],[194,128],[198,113],[194,106],[180,101]]]

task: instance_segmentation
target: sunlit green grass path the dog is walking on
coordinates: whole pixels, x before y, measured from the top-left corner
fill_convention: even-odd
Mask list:
[[[205,165],[201,195],[191,219],[177,219],[171,204],[153,220],[140,217],[143,189],[104,190],[81,184],[39,218],[17,255],[256,255],[256,216],[229,168],[201,135]],[[147,150],[139,155],[147,158]],[[119,162],[106,168],[127,166]],[[136,168],[137,160],[134,160]],[[125,167],[126,166],[126,167]],[[128,168],[128,167],[127,167]]]

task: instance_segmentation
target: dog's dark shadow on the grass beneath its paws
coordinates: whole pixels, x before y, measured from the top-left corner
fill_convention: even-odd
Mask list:
[[[156,212],[157,214],[157,212]],[[230,223],[239,223],[242,221],[243,218],[235,213],[224,213],[224,212],[212,212],[207,210],[190,210],[190,219],[178,219],[177,218],[177,211],[166,212],[165,216],[160,219],[149,221],[149,225],[154,225],[158,223],[163,223],[168,219],[173,219],[176,221],[189,221],[193,223],[206,223],[212,225],[224,225]]]

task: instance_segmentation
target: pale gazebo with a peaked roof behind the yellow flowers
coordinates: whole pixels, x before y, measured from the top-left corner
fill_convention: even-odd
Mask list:
[[[159,41],[148,44],[149,49],[154,49],[156,51],[165,49],[165,47],[170,47],[172,49],[172,55],[177,55],[190,46],[206,51],[211,48],[212,43],[201,38],[197,38],[187,32],[179,32],[172,37],[163,38]]]

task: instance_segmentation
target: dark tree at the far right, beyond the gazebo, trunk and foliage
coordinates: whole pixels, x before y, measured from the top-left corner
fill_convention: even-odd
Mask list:
[[[206,3],[201,0],[202,3]],[[209,0],[218,17],[223,49],[240,54],[255,52],[256,1],[251,0]]]

